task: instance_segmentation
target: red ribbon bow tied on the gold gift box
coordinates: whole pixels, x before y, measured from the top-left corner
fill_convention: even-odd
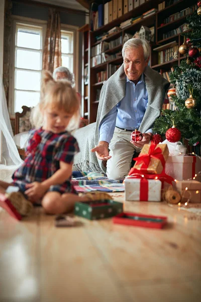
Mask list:
[[[165,159],[162,155],[162,150],[160,147],[156,146],[156,144],[151,143],[148,154],[140,154],[139,157],[133,159],[137,162],[138,165],[143,163],[140,168],[142,172],[147,172],[147,168],[149,167],[149,163],[152,158],[160,160],[163,168],[165,167]]]

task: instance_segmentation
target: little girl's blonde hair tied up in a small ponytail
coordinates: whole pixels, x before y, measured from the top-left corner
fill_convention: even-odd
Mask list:
[[[72,114],[66,130],[72,131],[78,128],[80,101],[75,89],[72,88],[68,80],[55,81],[51,73],[44,70],[42,72],[40,102],[32,110],[31,116],[31,122],[36,128],[40,128],[43,125],[41,112],[49,106]]]

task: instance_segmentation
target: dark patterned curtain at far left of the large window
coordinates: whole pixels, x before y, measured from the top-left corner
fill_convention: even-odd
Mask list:
[[[10,69],[10,48],[11,48],[11,26],[12,26],[12,2],[5,1],[5,19],[4,19],[4,68],[3,83],[7,99],[9,101],[9,69]]]

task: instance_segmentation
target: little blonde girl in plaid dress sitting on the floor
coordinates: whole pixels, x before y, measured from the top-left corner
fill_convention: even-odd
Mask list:
[[[31,130],[26,159],[14,172],[13,182],[0,181],[0,193],[7,194],[18,213],[28,215],[32,203],[39,201],[46,213],[60,214],[71,211],[76,201],[111,199],[98,192],[78,196],[71,185],[73,157],[79,147],[69,129],[79,123],[79,103],[70,82],[55,82],[48,71],[43,72],[39,110],[33,115],[34,124],[42,120],[42,127]],[[1,194],[0,205],[8,210],[2,200]]]

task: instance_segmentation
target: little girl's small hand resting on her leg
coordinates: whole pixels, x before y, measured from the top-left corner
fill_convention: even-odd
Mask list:
[[[31,184],[27,184],[26,188],[28,189],[25,191],[25,194],[31,201],[39,200],[41,197],[44,196],[45,192],[47,191],[47,188],[43,186],[42,183],[39,183],[37,181]]]

